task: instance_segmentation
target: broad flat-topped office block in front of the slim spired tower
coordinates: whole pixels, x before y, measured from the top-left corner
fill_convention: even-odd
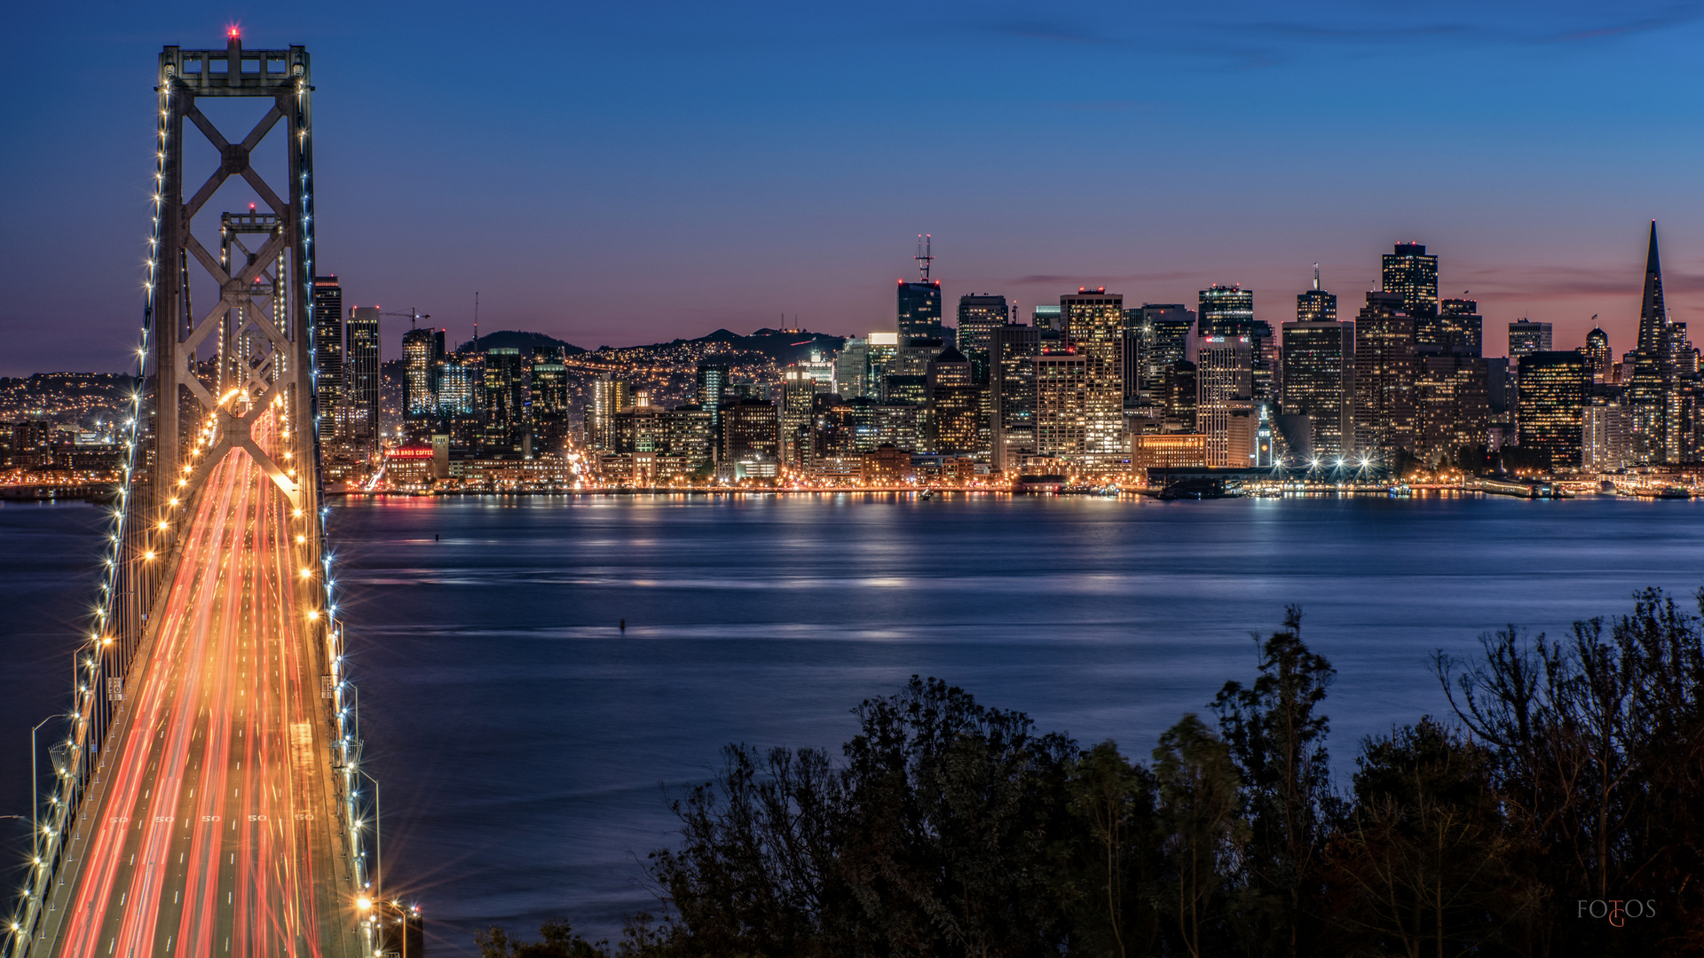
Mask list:
[[[1297,297],[1297,315],[1336,315],[1336,297],[1321,303],[1322,290]],[[1329,295],[1329,293],[1327,293]],[[1307,298],[1307,302],[1304,302]],[[1304,312],[1304,305],[1310,307]],[[1326,309],[1329,305],[1329,309]],[[1285,416],[1305,416],[1305,455],[1339,457],[1355,452],[1355,324],[1334,319],[1283,324]]]

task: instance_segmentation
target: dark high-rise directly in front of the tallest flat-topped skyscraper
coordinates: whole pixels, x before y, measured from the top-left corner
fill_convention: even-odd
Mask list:
[[[1401,293],[1367,293],[1355,317],[1355,450],[1389,465],[1414,448],[1414,317]]]

